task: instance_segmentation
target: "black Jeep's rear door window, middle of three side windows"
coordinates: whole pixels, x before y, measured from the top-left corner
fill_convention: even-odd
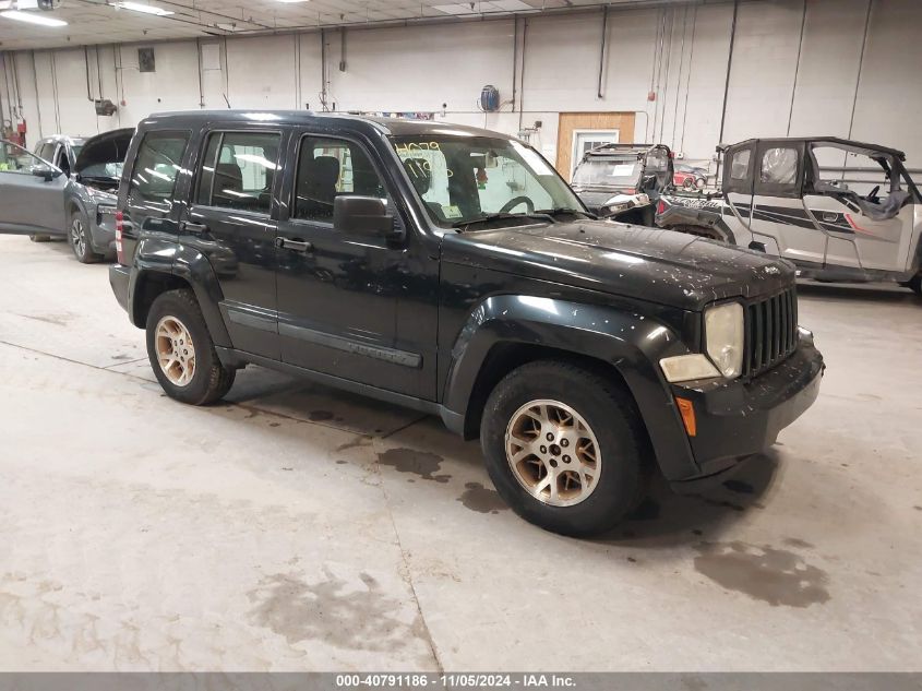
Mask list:
[[[213,132],[199,170],[196,202],[267,214],[280,141],[277,132]]]

